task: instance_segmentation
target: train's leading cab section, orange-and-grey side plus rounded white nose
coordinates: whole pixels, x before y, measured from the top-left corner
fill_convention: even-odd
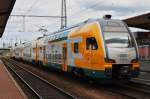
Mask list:
[[[68,66],[92,78],[130,79],[139,75],[138,48],[121,20],[89,22],[68,36]]]

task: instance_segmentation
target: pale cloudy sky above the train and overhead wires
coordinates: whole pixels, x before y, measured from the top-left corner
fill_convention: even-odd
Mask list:
[[[115,19],[126,19],[150,12],[150,0],[66,0],[68,26],[87,19],[102,18],[111,14]],[[61,0],[16,0],[11,15],[60,16]],[[0,47],[15,42],[25,42],[41,36],[39,28],[47,29],[50,34],[60,29],[59,18],[28,18],[23,24],[22,17],[10,16]],[[24,26],[24,27],[23,27]],[[135,30],[135,29],[134,29]]]

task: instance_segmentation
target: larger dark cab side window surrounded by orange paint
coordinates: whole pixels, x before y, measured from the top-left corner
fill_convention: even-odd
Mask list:
[[[98,49],[97,42],[94,37],[90,37],[90,38],[86,39],[86,49],[87,50],[97,50]]]

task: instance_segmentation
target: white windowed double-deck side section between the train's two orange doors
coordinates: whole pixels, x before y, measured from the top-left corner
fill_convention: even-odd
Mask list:
[[[66,43],[65,40],[57,42],[49,42],[46,47],[46,60],[47,65],[54,68],[63,70],[64,56],[63,56],[63,45]]]

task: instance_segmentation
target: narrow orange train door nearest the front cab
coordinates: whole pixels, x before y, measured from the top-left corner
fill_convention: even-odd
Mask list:
[[[67,71],[67,45],[63,44],[63,61],[62,61],[62,70]]]

